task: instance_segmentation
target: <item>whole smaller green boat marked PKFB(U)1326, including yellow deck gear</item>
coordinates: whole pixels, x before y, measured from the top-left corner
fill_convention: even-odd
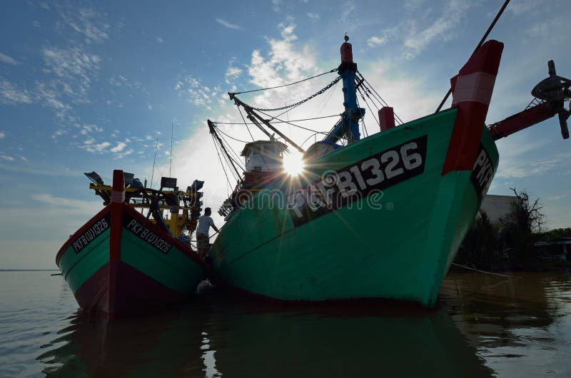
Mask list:
[[[122,170],[113,171],[113,187],[103,185],[96,173],[86,175],[106,207],[56,255],[81,309],[113,318],[192,297],[204,277],[203,263],[191,249],[190,235],[181,234],[196,229],[202,182],[181,192],[175,178],[162,178],[161,190],[151,190],[140,183],[126,188],[128,174]],[[163,219],[166,209],[170,219]]]

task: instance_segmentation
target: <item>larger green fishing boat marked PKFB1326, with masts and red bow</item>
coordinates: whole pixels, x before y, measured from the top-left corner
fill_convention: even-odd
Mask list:
[[[308,150],[258,114],[283,108],[254,108],[229,93],[271,138],[246,145],[246,170],[219,211],[226,224],[210,251],[218,285],[279,302],[395,300],[433,307],[497,169],[495,141],[557,114],[568,138],[569,111],[562,106],[571,81],[551,65],[550,78],[532,92],[535,103],[485,126],[502,48],[498,41],[477,48],[451,80],[451,108],[395,126],[393,109],[384,106],[380,132],[360,138],[365,109],[356,92],[368,82],[346,37],[335,79],[343,81],[345,111]],[[219,126],[208,126],[223,148]],[[303,173],[272,168],[284,147],[271,132],[303,152]]]

